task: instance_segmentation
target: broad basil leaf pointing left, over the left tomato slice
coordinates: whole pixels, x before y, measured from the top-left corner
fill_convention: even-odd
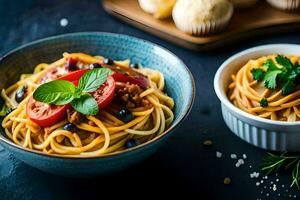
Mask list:
[[[47,104],[65,105],[74,99],[75,86],[65,80],[55,80],[40,85],[33,93],[36,101]]]

